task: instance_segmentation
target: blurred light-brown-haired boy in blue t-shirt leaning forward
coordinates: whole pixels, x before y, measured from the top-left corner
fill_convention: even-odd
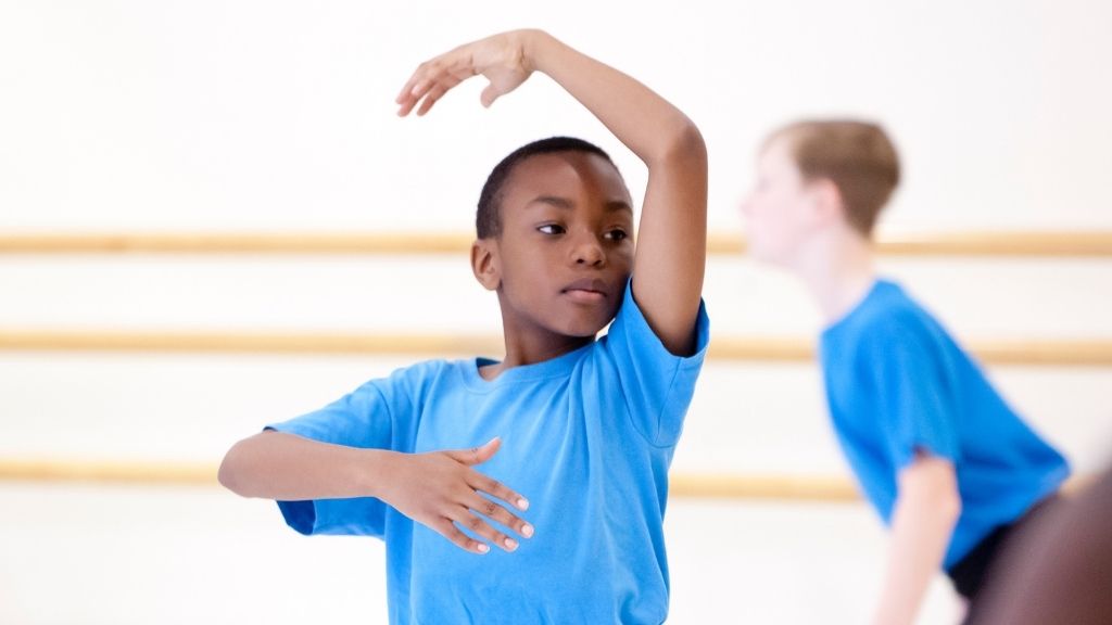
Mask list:
[[[877,126],[804,121],[766,141],[742,207],[751,254],[802,278],[826,321],[834,430],[892,530],[877,625],[912,623],[939,567],[974,597],[1007,534],[1069,474],[946,330],[876,277],[873,224],[898,178]]]

